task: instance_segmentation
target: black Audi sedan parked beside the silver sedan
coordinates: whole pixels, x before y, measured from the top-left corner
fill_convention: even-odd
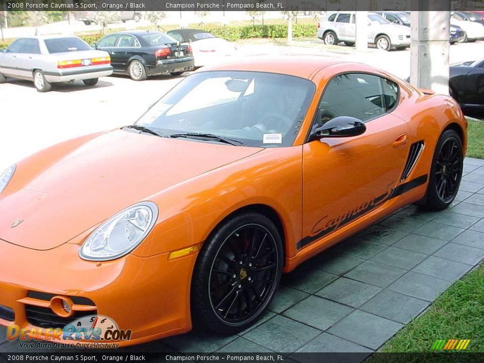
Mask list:
[[[158,31],[113,33],[93,47],[109,53],[114,74],[127,74],[135,81],[168,73],[178,76],[194,68],[192,47]]]

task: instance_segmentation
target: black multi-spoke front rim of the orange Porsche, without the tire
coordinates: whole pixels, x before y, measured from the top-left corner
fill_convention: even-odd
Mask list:
[[[258,313],[271,295],[279,265],[270,231],[248,224],[233,231],[220,247],[209,277],[213,311],[226,323]]]

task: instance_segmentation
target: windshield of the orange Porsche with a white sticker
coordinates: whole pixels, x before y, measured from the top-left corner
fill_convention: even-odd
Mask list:
[[[247,146],[291,146],[315,85],[299,77],[240,71],[195,73],[136,124],[163,134],[207,133]]]

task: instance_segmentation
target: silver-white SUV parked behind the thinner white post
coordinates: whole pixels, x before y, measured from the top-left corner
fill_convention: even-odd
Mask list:
[[[353,45],[356,38],[355,12],[328,13],[318,23],[318,38],[325,44],[344,42]],[[390,23],[376,13],[368,13],[368,43],[384,50],[405,49],[410,46],[410,28]]]

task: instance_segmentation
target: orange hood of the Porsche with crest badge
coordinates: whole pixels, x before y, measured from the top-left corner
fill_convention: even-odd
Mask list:
[[[55,248],[134,203],[260,150],[125,130],[102,134],[0,199],[0,238]]]

